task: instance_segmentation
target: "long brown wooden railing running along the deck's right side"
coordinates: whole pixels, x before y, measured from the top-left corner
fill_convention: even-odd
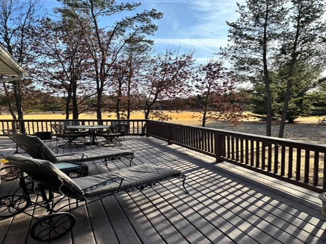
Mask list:
[[[316,192],[326,191],[326,145],[147,120],[147,135]]]

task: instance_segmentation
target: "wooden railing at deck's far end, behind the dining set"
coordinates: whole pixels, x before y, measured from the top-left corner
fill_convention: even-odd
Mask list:
[[[28,135],[35,135],[35,132],[53,132],[52,124],[64,121],[78,121],[80,125],[111,125],[117,119],[23,119],[23,120],[0,120],[0,136],[4,136],[3,130],[20,130]],[[119,121],[129,122],[127,135],[145,135],[145,119],[120,119]]]

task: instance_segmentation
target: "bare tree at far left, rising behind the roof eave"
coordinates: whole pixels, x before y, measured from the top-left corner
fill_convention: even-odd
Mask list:
[[[35,46],[38,43],[36,29],[40,23],[39,10],[39,0],[0,0],[0,43],[27,70],[36,58]],[[25,81],[18,80],[6,87],[7,94],[9,88],[12,89],[18,119],[23,119],[23,89],[30,83],[30,80],[26,81],[27,83]],[[9,110],[13,111],[9,95],[8,105],[10,106]]]

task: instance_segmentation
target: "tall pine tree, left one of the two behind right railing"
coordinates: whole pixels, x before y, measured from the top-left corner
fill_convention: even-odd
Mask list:
[[[250,81],[253,76],[261,76],[266,92],[266,135],[271,135],[272,97],[269,69],[273,64],[275,46],[280,40],[285,26],[287,10],[285,0],[247,0],[246,6],[238,4],[240,17],[235,22],[227,22],[229,44],[222,49],[240,79]]]

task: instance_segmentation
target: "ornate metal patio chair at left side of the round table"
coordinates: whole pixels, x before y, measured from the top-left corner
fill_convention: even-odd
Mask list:
[[[83,145],[83,141],[79,138],[85,138],[88,136],[87,132],[70,131],[64,124],[52,124],[51,128],[56,132],[57,138],[62,138],[63,144],[58,146],[80,146]],[[76,143],[76,141],[80,143]]]

